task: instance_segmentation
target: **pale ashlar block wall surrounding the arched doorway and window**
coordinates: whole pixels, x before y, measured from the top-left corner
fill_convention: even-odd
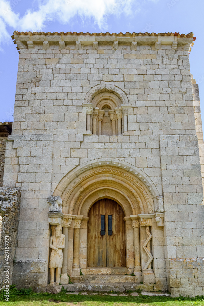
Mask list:
[[[20,58],[4,186],[22,189],[18,273],[17,265],[22,261],[35,263],[37,282],[46,288],[50,237],[47,196],[57,190],[63,178],[68,185],[77,166],[92,167],[95,159],[117,159],[128,171],[131,166],[139,169],[135,175],[146,182],[146,188],[155,190],[153,200],[164,196],[164,230],[152,229],[156,285],[168,284],[172,296],[202,294],[199,152],[203,140],[188,56],[193,33],[182,37],[173,33],[14,32],[13,39]],[[87,135],[94,133],[93,99],[103,92],[121,101],[121,135]],[[126,120],[128,131],[124,131]],[[82,248],[80,244],[81,254]],[[189,258],[191,265],[187,264]],[[83,257],[80,262],[84,264]],[[199,264],[199,274],[192,264]],[[39,286],[27,274],[18,274],[16,279]]]

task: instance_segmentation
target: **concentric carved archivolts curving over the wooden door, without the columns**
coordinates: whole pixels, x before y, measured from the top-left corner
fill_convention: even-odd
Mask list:
[[[76,167],[62,179],[54,195],[60,194],[64,214],[87,216],[91,205],[105,197],[116,200],[126,216],[154,213],[156,194],[153,196],[152,182],[146,177],[144,183],[141,175],[134,175],[135,166],[115,161],[102,165],[101,159],[94,160]]]

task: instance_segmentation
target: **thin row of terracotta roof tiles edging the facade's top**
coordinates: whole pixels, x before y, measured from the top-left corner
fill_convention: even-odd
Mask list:
[[[172,32],[168,32],[168,33],[148,33],[148,32],[145,32],[145,33],[135,33],[135,32],[126,32],[125,34],[120,32],[120,33],[109,33],[109,32],[106,32],[106,33],[89,33],[89,32],[86,32],[86,33],[83,33],[83,32],[18,32],[18,31],[14,31],[13,32],[13,35],[95,35],[95,36],[98,36],[98,35],[102,35],[102,36],[105,36],[105,35],[116,35],[116,36],[127,36],[127,35],[130,35],[130,36],[177,36],[177,37],[187,37],[187,38],[193,38],[194,37],[194,34],[193,32],[190,32],[188,34],[179,34],[179,32],[175,32],[175,33],[172,33]]]

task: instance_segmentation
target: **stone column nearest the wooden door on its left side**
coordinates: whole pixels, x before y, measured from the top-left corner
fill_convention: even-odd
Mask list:
[[[72,275],[79,276],[80,275],[80,267],[79,267],[79,233],[81,220],[83,216],[76,216],[74,219],[74,245],[73,245],[73,267],[72,267]]]

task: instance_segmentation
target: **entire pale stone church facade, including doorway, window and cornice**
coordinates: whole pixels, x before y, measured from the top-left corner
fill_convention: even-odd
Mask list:
[[[202,295],[193,33],[12,38],[20,56],[3,187],[21,190],[13,283]]]

